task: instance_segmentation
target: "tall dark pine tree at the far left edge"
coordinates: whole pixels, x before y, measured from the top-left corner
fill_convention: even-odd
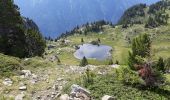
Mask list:
[[[27,55],[24,26],[18,10],[13,0],[0,0],[0,52],[24,57]]]

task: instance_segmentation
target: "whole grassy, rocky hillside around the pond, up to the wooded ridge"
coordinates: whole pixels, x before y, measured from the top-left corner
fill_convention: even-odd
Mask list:
[[[151,6],[155,5],[157,4]],[[146,27],[149,18],[139,17],[136,10],[131,11],[138,6],[142,6],[145,14],[151,7],[137,5],[130,8],[122,16],[121,24],[115,26],[103,21],[88,23],[76,27],[71,32],[67,32],[69,34],[64,34],[55,41],[49,39],[42,57],[20,59],[0,54],[0,99],[13,100],[20,97],[24,100],[58,100],[60,96],[68,99],[68,97],[74,97],[71,90],[73,92],[76,90],[72,88],[79,88],[73,84],[78,84],[83,87],[80,90],[85,94],[85,96],[79,94],[80,100],[84,100],[81,96],[86,98],[85,100],[90,100],[90,98],[101,100],[104,95],[110,95],[116,100],[169,100],[170,18],[166,24]],[[170,14],[168,7],[163,9],[165,10],[163,15]],[[129,16],[131,12],[135,12],[135,17]],[[150,16],[150,14],[146,15]],[[134,19],[140,19],[142,23],[130,25]],[[134,38],[143,33],[147,33],[151,37],[149,63],[153,62],[158,65],[158,59],[162,57],[166,65],[164,72],[156,71],[156,75],[160,76],[158,78],[161,80],[158,86],[147,86],[145,79],[140,77],[138,71],[132,70],[128,66],[129,51],[133,51],[131,48],[133,48]],[[96,43],[96,41],[98,42]],[[109,51],[112,54],[110,58],[112,62],[110,59],[87,58],[88,65],[81,66],[83,61],[77,59],[74,53],[80,48],[79,45],[83,46],[86,43],[94,44],[95,47],[101,45],[112,47],[112,50]],[[89,48],[86,50],[93,51]],[[153,67],[155,67],[154,64]],[[155,72],[156,68],[153,69]],[[88,89],[90,93],[84,88]],[[60,98],[59,100],[67,99]]]

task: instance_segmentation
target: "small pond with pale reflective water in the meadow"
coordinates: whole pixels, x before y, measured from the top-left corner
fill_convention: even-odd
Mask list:
[[[74,53],[77,59],[82,59],[85,56],[88,59],[105,60],[111,56],[110,51],[112,47],[110,46],[83,44],[79,47],[80,48]]]

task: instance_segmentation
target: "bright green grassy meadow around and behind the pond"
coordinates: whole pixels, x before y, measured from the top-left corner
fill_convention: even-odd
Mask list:
[[[75,34],[68,36],[67,39],[71,41],[70,46],[67,46],[71,49],[74,49],[73,46],[80,45],[81,38],[83,38],[85,43],[90,41],[97,40],[100,38],[101,44],[108,45],[113,48],[112,59],[115,62],[119,61],[120,64],[127,64],[128,51],[130,50],[130,44],[128,43],[126,37],[129,37],[131,40],[141,33],[149,33],[152,38],[152,47],[153,55],[155,59],[159,56],[163,58],[170,57],[170,35],[169,35],[169,25],[160,26],[157,29],[146,29],[144,25],[134,25],[127,29],[122,29],[121,26],[116,26],[116,28],[111,28],[109,26],[104,26],[104,31],[102,33],[89,32],[88,35]],[[67,65],[79,65],[80,60],[76,59],[73,56],[73,52],[63,51],[59,57],[63,64]],[[89,64],[99,65],[105,64],[98,63],[98,61],[89,61]],[[94,63],[96,62],[96,63]]]

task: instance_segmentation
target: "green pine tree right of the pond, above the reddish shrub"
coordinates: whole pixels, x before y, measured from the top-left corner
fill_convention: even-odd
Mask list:
[[[132,41],[132,52],[129,52],[128,65],[131,69],[135,69],[135,64],[141,64],[142,58],[149,58],[151,54],[150,35],[142,34]],[[140,60],[138,59],[140,58]]]

